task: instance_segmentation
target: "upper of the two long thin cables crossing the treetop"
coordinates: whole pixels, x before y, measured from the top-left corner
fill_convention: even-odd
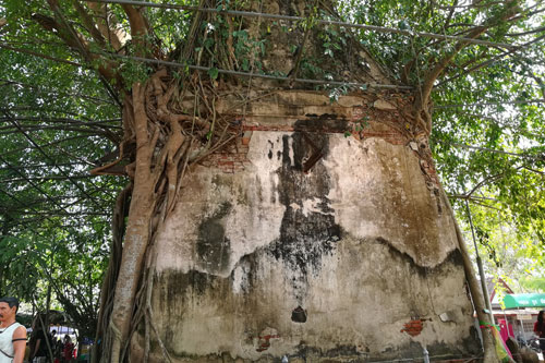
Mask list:
[[[161,8],[161,9],[184,10],[184,11],[201,11],[201,12],[207,12],[207,13],[217,13],[217,14],[243,16],[243,17],[264,17],[264,19],[270,19],[270,20],[286,20],[286,21],[290,21],[290,22],[300,22],[300,21],[306,20],[305,17],[301,17],[301,16],[269,14],[269,13],[261,13],[261,12],[252,12],[252,11],[240,11],[240,10],[221,10],[221,9],[213,9],[213,8],[198,8],[198,7],[190,7],[190,5],[154,3],[154,2],[146,2],[146,1],[92,0],[90,2],[130,4],[130,5],[136,5],[136,7]],[[352,24],[352,23],[330,21],[330,20],[316,20],[316,23],[323,24],[323,25],[338,25],[338,26],[342,26],[342,27],[373,31],[373,32],[377,32],[377,33],[401,34],[401,35],[410,36],[410,37],[419,36],[419,37],[434,38],[434,39],[441,39],[441,40],[464,41],[464,43],[469,43],[469,44],[479,44],[479,45],[483,45],[483,46],[500,47],[500,48],[508,48],[508,49],[516,47],[514,45],[506,44],[506,43],[494,43],[494,41],[488,41],[488,40],[472,39],[472,38],[458,37],[458,36],[453,36],[453,35],[444,35],[444,34],[435,34],[435,33],[426,33],[426,32],[404,31],[404,29],[398,29],[398,28],[386,27],[386,26],[377,26],[377,25]]]

